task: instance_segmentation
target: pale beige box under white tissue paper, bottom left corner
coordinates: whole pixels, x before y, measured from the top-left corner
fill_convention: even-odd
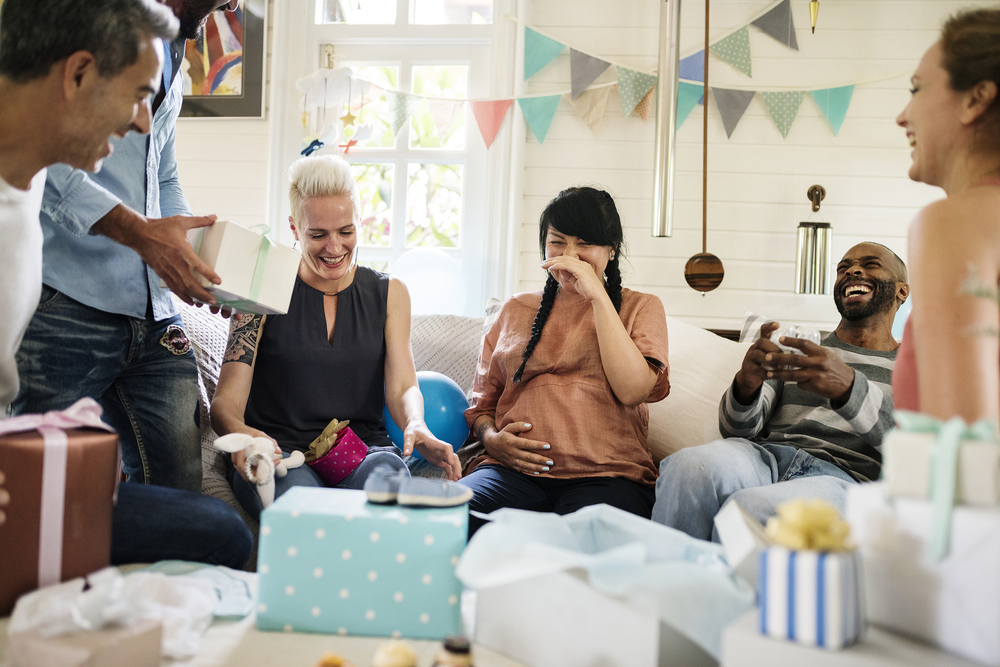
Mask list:
[[[57,637],[18,632],[7,642],[8,667],[159,667],[162,626],[138,621]]]

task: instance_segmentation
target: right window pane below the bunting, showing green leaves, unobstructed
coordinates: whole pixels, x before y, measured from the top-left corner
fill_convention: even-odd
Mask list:
[[[458,247],[463,169],[460,164],[408,166],[406,247]]]

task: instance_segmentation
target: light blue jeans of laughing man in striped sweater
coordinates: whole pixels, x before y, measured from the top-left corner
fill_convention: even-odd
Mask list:
[[[853,477],[790,445],[716,440],[660,462],[653,521],[701,540],[719,541],[715,515],[728,501],[761,523],[794,498],[822,498],[844,512]]]

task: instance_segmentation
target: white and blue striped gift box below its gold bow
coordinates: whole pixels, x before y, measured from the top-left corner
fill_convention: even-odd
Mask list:
[[[857,552],[769,547],[760,553],[757,606],[760,632],[807,646],[839,649],[865,627]]]

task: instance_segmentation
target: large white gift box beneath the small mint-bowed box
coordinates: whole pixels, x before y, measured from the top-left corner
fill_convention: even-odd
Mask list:
[[[852,486],[847,519],[865,567],[868,618],[971,660],[1000,665],[1000,509],[956,507],[948,555],[925,556],[930,501]]]

